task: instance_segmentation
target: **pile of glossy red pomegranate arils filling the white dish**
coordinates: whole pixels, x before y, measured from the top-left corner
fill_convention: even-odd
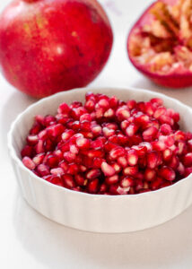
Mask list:
[[[36,116],[22,162],[57,186],[101,195],[133,195],[167,187],[192,172],[192,134],[161,99],[122,101],[88,92]]]

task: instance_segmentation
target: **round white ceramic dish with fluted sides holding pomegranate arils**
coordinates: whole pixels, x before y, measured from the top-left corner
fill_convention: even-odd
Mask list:
[[[39,100],[13,122],[8,134],[8,148],[22,195],[39,213],[52,221],[79,230],[128,232],[144,230],[169,221],[192,204],[192,175],[171,187],[139,195],[89,195],[57,187],[37,177],[22,164],[20,152],[37,114],[55,114],[65,101],[84,100],[86,91],[116,95],[121,100],[150,100],[159,97],[167,107],[179,111],[180,125],[192,131],[192,109],[153,91],[138,89],[76,89]]]

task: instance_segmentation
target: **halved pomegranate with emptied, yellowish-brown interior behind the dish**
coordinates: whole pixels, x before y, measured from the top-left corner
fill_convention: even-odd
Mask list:
[[[171,88],[192,85],[192,3],[161,0],[135,23],[127,39],[135,68]]]

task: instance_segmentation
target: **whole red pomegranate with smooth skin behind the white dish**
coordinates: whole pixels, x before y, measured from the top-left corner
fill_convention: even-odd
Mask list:
[[[112,43],[96,0],[14,0],[0,15],[2,73],[35,98],[92,82]]]

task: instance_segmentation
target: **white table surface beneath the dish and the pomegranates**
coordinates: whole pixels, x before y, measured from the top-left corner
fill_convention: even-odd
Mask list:
[[[0,9],[10,0],[2,0]],[[128,85],[161,91],[192,106],[192,89],[161,89],[127,60],[127,31],[149,0],[100,0],[109,14],[115,42],[109,63],[89,87]],[[192,207],[159,227],[127,234],[95,234],[58,225],[22,199],[7,154],[13,119],[32,102],[0,76],[0,268],[192,268]]]

